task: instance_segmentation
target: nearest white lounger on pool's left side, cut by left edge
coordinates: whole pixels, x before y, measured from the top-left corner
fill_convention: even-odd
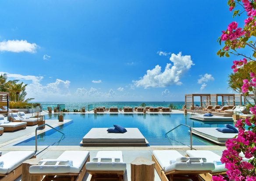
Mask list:
[[[16,131],[27,127],[27,123],[21,122],[9,122],[7,117],[0,115],[0,127],[4,128],[4,131]]]

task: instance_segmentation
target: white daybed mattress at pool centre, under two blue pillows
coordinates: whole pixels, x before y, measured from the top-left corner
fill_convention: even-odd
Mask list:
[[[107,128],[92,128],[82,140],[83,144],[89,143],[144,143],[146,139],[138,128],[126,128],[125,133],[108,133]]]

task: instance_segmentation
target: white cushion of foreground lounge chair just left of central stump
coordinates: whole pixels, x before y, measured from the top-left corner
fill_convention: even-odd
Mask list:
[[[122,151],[98,151],[96,158],[103,158],[99,161],[92,160],[86,163],[86,169],[89,171],[124,171],[126,170],[126,163],[123,161]],[[111,158],[108,161],[107,158]]]

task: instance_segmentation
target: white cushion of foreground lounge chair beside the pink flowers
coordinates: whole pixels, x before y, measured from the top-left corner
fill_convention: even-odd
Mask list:
[[[189,157],[205,157],[207,162],[215,163],[215,168],[212,170],[212,173],[224,172],[227,171],[225,164],[216,164],[220,163],[220,156],[213,153],[209,150],[187,150],[186,154]]]

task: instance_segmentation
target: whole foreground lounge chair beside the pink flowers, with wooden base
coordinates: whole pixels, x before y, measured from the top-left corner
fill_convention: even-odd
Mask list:
[[[215,168],[210,173],[200,174],[205,181],[211,181],[213,175],[226,175],[225,164],[221,164],[220,156],[209,150],[187,150],[188,157],[205,157],[207,162],[215,164]]]

